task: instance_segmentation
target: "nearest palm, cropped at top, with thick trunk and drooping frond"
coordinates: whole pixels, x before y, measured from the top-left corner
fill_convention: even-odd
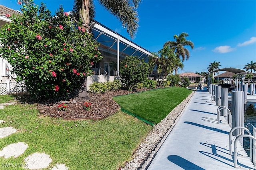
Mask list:
[[[28,5],[31,0],[17,0],[18,3]],[[98,0],[98,2],[111,14],[116,16],[122,23],[130,37],[133,39],[138,30],[138,4],[141,0]],[[92,20],[95,16],[94,0],[74,0],[73,19],[77,22],[80,18],[82,26],[89,33],[92,27]]]

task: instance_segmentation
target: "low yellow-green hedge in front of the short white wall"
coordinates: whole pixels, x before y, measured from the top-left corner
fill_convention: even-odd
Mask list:
[[[118,90],[121,88],[121,82],[119,80],[109,82],[93,82],[90,84],[90,92],[92,93],[105,93],[110,90]]]

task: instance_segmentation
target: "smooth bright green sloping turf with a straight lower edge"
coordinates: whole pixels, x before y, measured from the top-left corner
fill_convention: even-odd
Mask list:
[[[186,88],[169,87],[116,96],[114,100],[123,109],[157,124],[191,92]]]

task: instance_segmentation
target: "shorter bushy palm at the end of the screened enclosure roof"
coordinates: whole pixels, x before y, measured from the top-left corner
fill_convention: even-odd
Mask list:
[[[174,69],[183,68],[183,64],[180,59],[176,57],[173,50],[165,46],[163,49],[159,50],[158,53],[152,53],[149,57],[148,64],[150,67],[150,72],[156,67],[158,72],[158,86],[160,86],[166,78],[166,76]],[[160,82],[160,75],[163,74],[162,80]]]

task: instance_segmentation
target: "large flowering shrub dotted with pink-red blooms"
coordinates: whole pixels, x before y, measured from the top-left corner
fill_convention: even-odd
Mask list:
[[[0,29],[0,53],[11,72],[35,96],[58,98],[78,90],[102,59],[92,35],[62,7],[51,16],[44,4],[28,3],[22,12],[8,15],[12,22]]]

